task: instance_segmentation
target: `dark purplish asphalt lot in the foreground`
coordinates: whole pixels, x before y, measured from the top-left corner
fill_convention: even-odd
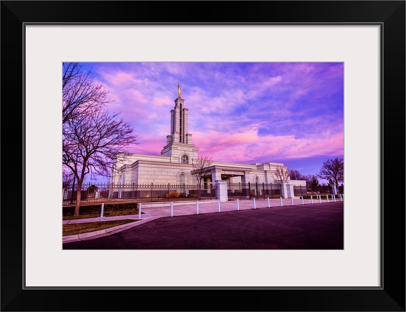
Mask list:
[[[163,216],[62,249],[342,250],[344,201]]]

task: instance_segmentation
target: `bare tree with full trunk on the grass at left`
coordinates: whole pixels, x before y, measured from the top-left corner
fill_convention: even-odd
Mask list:
[[[69,118],[62,125],[62,164],[70,168],[77,181],[76,216],[85,176],[109,176],[117,155],[126,155],[125,148],[130,144],[139,144],[132,126],[119,114],[88,109],[86,114]]]

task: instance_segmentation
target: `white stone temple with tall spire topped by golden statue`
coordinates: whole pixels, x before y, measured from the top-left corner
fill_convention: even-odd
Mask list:
[[[170,135],[161,156],[131,154],[125,159],[116,160],[110,176],[110,183],[154,183],[154,184],[197,184],[192,163],[198,161],[198,148],[192,144],[192,135],[188,129],[188,109],[181,98],[178,84],[178,98],[170,111]],[[213,160],[202,179],[202,184],[209,185],[215,181],[223,183],[278,183],[276,170],[288,168],[281,163],[267,162],[240,164]],[[287,181],[289,183],[289,180]],[[293,181],[290,181],[292,184]],[[296,181],[295,185],[304,185],[305,181]]]

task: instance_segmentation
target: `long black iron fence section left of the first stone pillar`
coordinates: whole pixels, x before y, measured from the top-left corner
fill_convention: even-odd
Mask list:
[[[73,192],[72,192],[73,190]],[[216,199],[215,185],[187,184],[92,184],[81,187],[81,205],[116,202],[161,202]],[[77,188],[63,189],[62,205],[76,205]]]

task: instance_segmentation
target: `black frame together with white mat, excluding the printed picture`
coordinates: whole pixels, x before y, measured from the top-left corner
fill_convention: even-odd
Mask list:
[[[1,311],[405,311],[405,1],[191,3],[1,1]],[[63,61],[344,62],[344,251],[62,250]]]

